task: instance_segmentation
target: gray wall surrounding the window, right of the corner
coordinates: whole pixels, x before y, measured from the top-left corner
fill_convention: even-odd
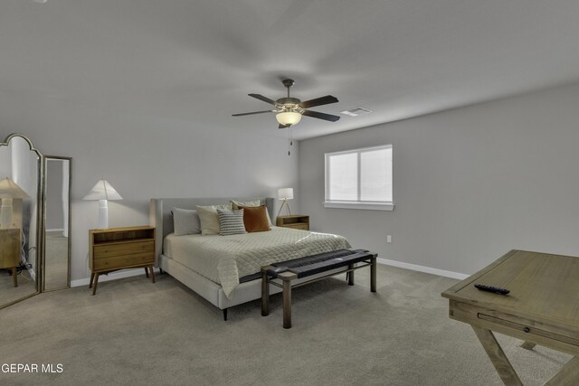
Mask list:
[[[324,209],[324,153],[381,144],[394,212]],[[579,84],[318,137],[300,143],[301,210],[381,258],[463,274],[509,249],[576,256],[578,145]]]

